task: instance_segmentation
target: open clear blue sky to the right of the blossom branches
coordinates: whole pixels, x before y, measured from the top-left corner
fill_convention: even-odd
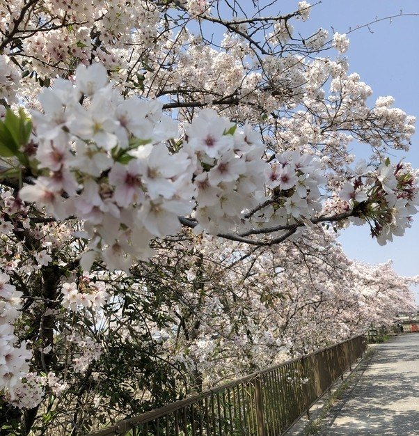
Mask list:
[[[308,0],[315,4],[314,1]],[[280,13],[294,10],[297,1],[278,1]],[[322,0],[310,13],[310,20],[294,26],[303,36],[323,27],[347,33],[377,18],[403,13],[418,16],[400,16],[371,24],[369,29],[350,33],[351,41],[346,53],[350,72],[358,72],[361,80],[374,92],[371,104],[379,95],[392,95],[395,107],[416,116],[418,133],[413,137],[409,153],[404,157],[413,167],[419,168],[419,1],[418,0]],[[294,23],[293,23],[294,24]],[[307,33],[306,33],[307,32]],[[352,226],[342,232],[340,242],[350,258],[368,263],[382,263],[388,259],[398,274],[419,274],[419,213],[413,217],[412,228],[402,238],[380,247],[369,237],[367,226]],[[419,304],[419,288],[416,288]]]

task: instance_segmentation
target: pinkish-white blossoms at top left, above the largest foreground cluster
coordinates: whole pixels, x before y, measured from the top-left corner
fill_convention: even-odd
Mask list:
[[[2,29],[6,33],[18,13],[19,6],[14,10],[0,7]],[[105,63],[109,70],[120,70],[127,65],[120,53],[121,47],[133,42],[143,49],[153,47],[159,20],[159,9],[144,0],[136,2],[135,6],[120,0],[81,3],[45,0],[44,6],[28,17],[28,22],[33,27],[39,22],[48,25],[45,31],[25,38],[21,49],[31,57],[31,67],[40,77],[49,77],[51,71],[61,73],[69,65],[87,65],[92,57]],[[62,26],[63,21],[71,23],[71,31],[68,26]],[[93,26],[101,34],[100,44],[95,33],[90,32]],[[135,27],[135,32],[127,31]]]

